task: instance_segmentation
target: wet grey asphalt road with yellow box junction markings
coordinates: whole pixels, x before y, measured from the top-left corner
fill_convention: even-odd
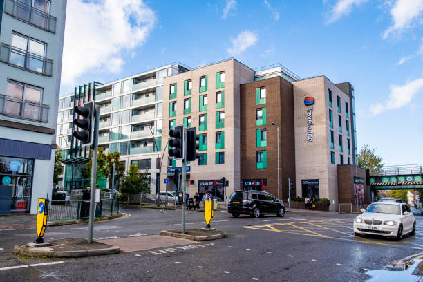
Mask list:
[[[131,238],[180,227],[180,211],[122,212],[130,216],[95,223],[94,237]],[[0,281],[364,281],[367,270],[422,251],[421,217],[416,217],[417,234],[402,241],[355,237],[354,217],[288,212],[284,218],[254,219],[215,212],[212,227],[227,232],[227,238],[110,256],[36,260],[10,254],[15,244],[35,239],[35,229],[12,224],[12,230],[0,230]],[[203,213],[187,212],[188,228],[204,226]],[[87,225],[48,227],[44,238],[86,237],[87,230]]]

